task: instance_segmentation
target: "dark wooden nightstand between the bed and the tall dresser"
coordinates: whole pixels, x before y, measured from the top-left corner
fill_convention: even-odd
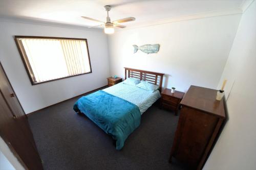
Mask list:
[[[161,108],[167,108],[175,111],[175,115],[178,115],[178,109],[180,106],[180,102],[184,96],[184,92],[175,90],[174,93],[170,92],[171,90],[165,88],[161,92]]]

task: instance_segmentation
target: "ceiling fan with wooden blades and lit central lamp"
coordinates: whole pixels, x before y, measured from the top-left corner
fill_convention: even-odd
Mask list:
[[[103,21],[100,21],[100,20],[97,20],[97,19],[93,19],[93,18],[89,18],[89,17],[86,17],[86,16],[81,16],[81,17],[84,18],[84,19],[89,19],[89,20],[93,20],[93,21],[96,21],[96,22],[100,22],[101,25],[97,25],[97,26],[93,26],[93,27],[104,26],[104,32],[106,34],[113,34],[115,32],[114,27],[125,28],[125,26],[119,25],[119,23],[129,22],[129,21],[134,21],[135,20],[134,17],[127,17],[127,18],[118,19],[118,20],[115,20],[115,21],[111,22],[110,17],[109,17],[109,11],[111,10],[111,6],[107,5],[107,6],[104,6],[104,8],[106,10],[106,13],[108,14],[108,16],[106,17],[106,22],[103,22]],[[89,27],[89,28],[93,28],[93,27]]]

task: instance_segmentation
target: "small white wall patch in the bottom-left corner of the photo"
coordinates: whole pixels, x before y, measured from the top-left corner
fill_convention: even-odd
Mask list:
[[[23,170],[24,167],[13,155],[8,145],[0,136],[0,170]]]

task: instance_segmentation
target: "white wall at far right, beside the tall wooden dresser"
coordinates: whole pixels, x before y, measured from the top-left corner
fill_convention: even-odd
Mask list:
[[[255,18],[256,1],[242,15],[219,83],[227,79],[229,120],[204,169],[256,169]]]

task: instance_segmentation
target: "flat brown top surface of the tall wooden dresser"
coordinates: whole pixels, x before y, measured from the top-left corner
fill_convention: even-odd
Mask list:
[[[180,104],[225,118],[224,98],[217,101],[217,91],[191,85]]]

